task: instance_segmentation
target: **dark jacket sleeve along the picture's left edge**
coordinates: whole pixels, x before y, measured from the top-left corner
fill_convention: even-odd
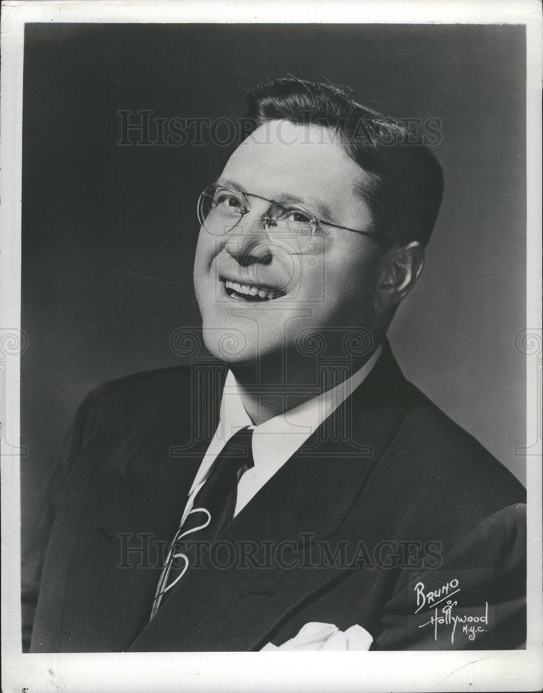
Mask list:
[[[98,411],[95,403],[101,398],[104,388],[97,387],[89,392],[79,405],[74,421],[64,437],[62,456],[47,486],[40,512],[35,520],[31,534],[21,552],[21,631],[23,652],[28,652],[31,642],[37,598],[40,593],[40,579],[46,555],[49,535],[55,521],[58,506],[62,499],[64,485],[71,465],[76,459],[83,441],[96,420]]]

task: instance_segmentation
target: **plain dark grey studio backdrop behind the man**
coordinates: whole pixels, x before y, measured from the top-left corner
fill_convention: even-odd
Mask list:
[[[441,119],[445,198],[390,340],[406,376],[524,480],[524,27],[27,24],[23,536],[87,390],[180,364],[169,337],[200,324],[196,198],[230,149],[117,146],[117,110],[236,118],[245,89],[287,74]]]

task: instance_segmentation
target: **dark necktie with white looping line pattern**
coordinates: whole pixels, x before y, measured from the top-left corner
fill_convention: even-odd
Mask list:
[[[191,538],[212,542],[232,521],[240,471],[243,474],[255,464],[251,441],[250,428],[242,428],[234,434],[216,458],[200,491],[196,493],[191,511],[179,526],[169,547],[158,581],[151,618],[157,613],[164,596],[189,569],[189,559],[184,552],[191,540],[185,537],[196,533]]]

